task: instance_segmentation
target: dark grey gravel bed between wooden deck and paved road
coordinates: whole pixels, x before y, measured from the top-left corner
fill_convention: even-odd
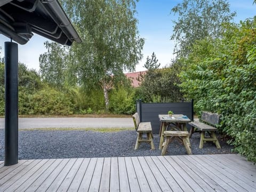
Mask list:
[[[0,130],[0,161],[4,159],[4,130]],[[134,150],[135,131],[93,132],[93,131],[19,131],[19,159],[79,158],[79,157],[124,157],[158,156],[159,134],[154,134],[155,150],[148,143],[141,143]],[[194,133],[190,139],[192,153],[230,154],[232,146],[226,138],[219,137],[221,149],[212,142],[206,142],[199,149],[200,135]],[[186,155],[186,149],[179,142],[170,143],[167,155]]]

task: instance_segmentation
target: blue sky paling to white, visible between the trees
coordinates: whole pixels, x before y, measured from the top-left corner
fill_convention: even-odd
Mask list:
[[[177,15],[171,14],[171,9],[181,0],[140,0],[137,3],[137,15],[139,20],[139,35],[145,38],[143,47],[143,59],[136,67],[136,71],[146,70],[143,65],[147,57],[155,52],[161,68],[169,65],[174,58],[174,41],[170,40],[172,35],[173,22]],[[256,15],[256,5],[253,0],[230,0],[230,11],[236,11],[237,15],[234,22],[252,18]],[[0,34],[0,46],[2,47],[0,57],[4,56],[4,42],[10,41],[9,38]],[[44,42],[49,41],[44,37],[34,34],[30,41],[25,45],[18,46],[19,61],[25,63],[30,69],[39,71],[39,55],[46,52]]]

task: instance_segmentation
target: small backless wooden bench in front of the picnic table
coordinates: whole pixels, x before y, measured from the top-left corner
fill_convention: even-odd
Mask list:
[[[189,134],[188,134],[187,131],[164,131],[165,141],[164,141],[164,144],[163,144],[164,147],[162,149],[162,154],[161,155],[166,154],[166,150],[167,150],[167,147],[168,147],[169,143],[172,142],[174,139],[178,139],[178,141],[180,141],[182,143],[182,145],[185,146],[185,148],[187,150],[187,154],[192,155],[188,135]]]

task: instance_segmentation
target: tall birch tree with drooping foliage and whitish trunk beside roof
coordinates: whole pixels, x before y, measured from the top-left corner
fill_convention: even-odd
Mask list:
[[[108,109],[108,86],[133,70],[142,58],[144,40],[139,37],[133,0],[62,1],[83,40],[71,47],[73,74],[86,91],[104,92]]]

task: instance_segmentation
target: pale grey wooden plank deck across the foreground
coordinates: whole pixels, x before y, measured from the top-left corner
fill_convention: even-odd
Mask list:
[[[256,166],[239,155],[0,162],[0,191],[256,191]]]

